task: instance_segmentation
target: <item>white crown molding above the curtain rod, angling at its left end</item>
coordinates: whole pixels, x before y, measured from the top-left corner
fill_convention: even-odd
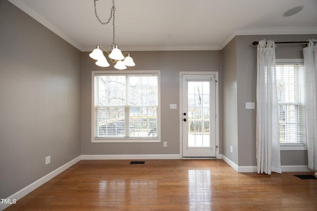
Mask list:
[[[237,35],[304,35],[317,34],[317,27],[235,28],[220,44],[220,50]]]

